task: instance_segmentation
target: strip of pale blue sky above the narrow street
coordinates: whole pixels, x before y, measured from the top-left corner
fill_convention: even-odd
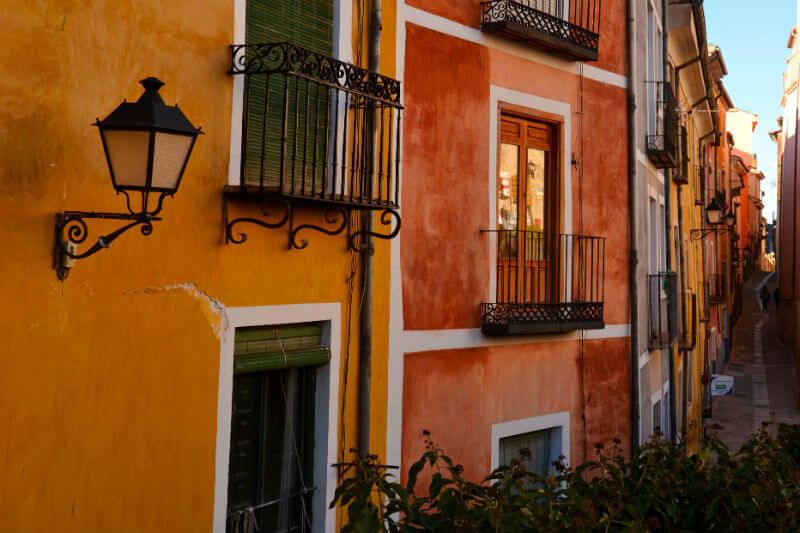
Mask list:
[[[783,92],[782,73],[789,57],[786,43],[797,21],[795,0],[706,0],[708,42],[722,49],[728,67],[725,88],[739,109],[758,115],[753,139],[758,166],[766,178],[764,217],[776,210],[777,145],[769,138],[778,129]]]

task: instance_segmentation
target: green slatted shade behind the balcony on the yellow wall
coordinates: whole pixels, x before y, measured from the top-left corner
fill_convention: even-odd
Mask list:
[[[247,44],[288,42],[333,54],[333,0],[248,0]],[[288,83],[288,87],[286,86]],[[288,89],[288,102],[284,98]],[[246,82],[245,179],[280,181],[281,136],[286,114],[284,186],[295,176],[307,190],[321,189],[331,90],[297,77],[250,75]],[[265,124],[265,108],[266,124]],[[263,159],[262,159],[263,154]]]

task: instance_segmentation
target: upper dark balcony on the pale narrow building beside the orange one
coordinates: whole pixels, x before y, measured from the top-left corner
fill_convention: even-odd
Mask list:
[[[674,168],[678,163],[680,120],[672,86],[668,82],[650,82],[650,99],[654,113],[647,135],[647,155],[658,168]]]

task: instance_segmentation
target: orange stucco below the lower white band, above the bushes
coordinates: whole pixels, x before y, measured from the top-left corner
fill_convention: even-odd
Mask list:
[[[492,424],[569,411],[572,464],[593,458],[597,442],[608,445],[614,438],[627,442],[627,353],[625,339],[585,342],[587,448],[581,419],[579,342],[406,355],[403,475],[424,451],[425,429],[474,480],[483,479],[490,470]]]

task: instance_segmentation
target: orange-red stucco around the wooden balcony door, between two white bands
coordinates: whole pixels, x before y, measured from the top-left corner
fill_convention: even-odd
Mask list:
[[[573,231],[604,236],[606,322],[628,320],[627,125],[624,89],[449,37],[406,28],[403,304],[406,329],[474,328],[488,296],[489,87],[566,102]],[[425,69],[413,68],[425,64]],[[581,225],[582,215],[582,225]]]

